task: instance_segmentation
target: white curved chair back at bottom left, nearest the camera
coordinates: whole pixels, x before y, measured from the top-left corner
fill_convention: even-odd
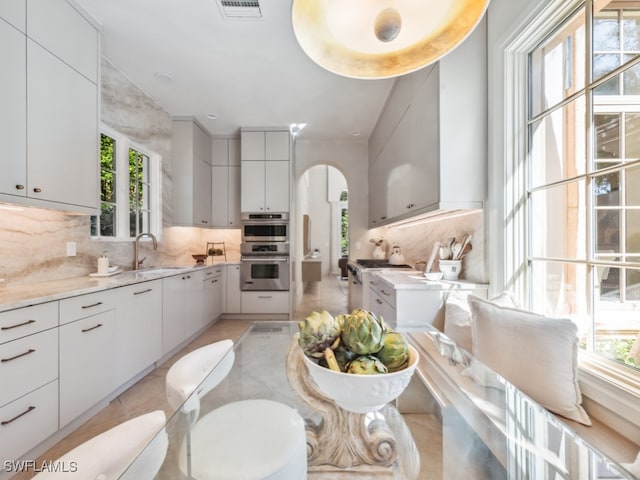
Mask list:
[[[165,424],[166,416],[162,410],[127,420],[87,440],[52,462],[51,464],[60,471],[45,470],[33,478],[37,480],[154,478],[167,454],[168,439]],[[141,452],[142,455],[140,455]],[[140,457],[137,458],[139,455]],[[122,477],[125,471],[127,473]]]

